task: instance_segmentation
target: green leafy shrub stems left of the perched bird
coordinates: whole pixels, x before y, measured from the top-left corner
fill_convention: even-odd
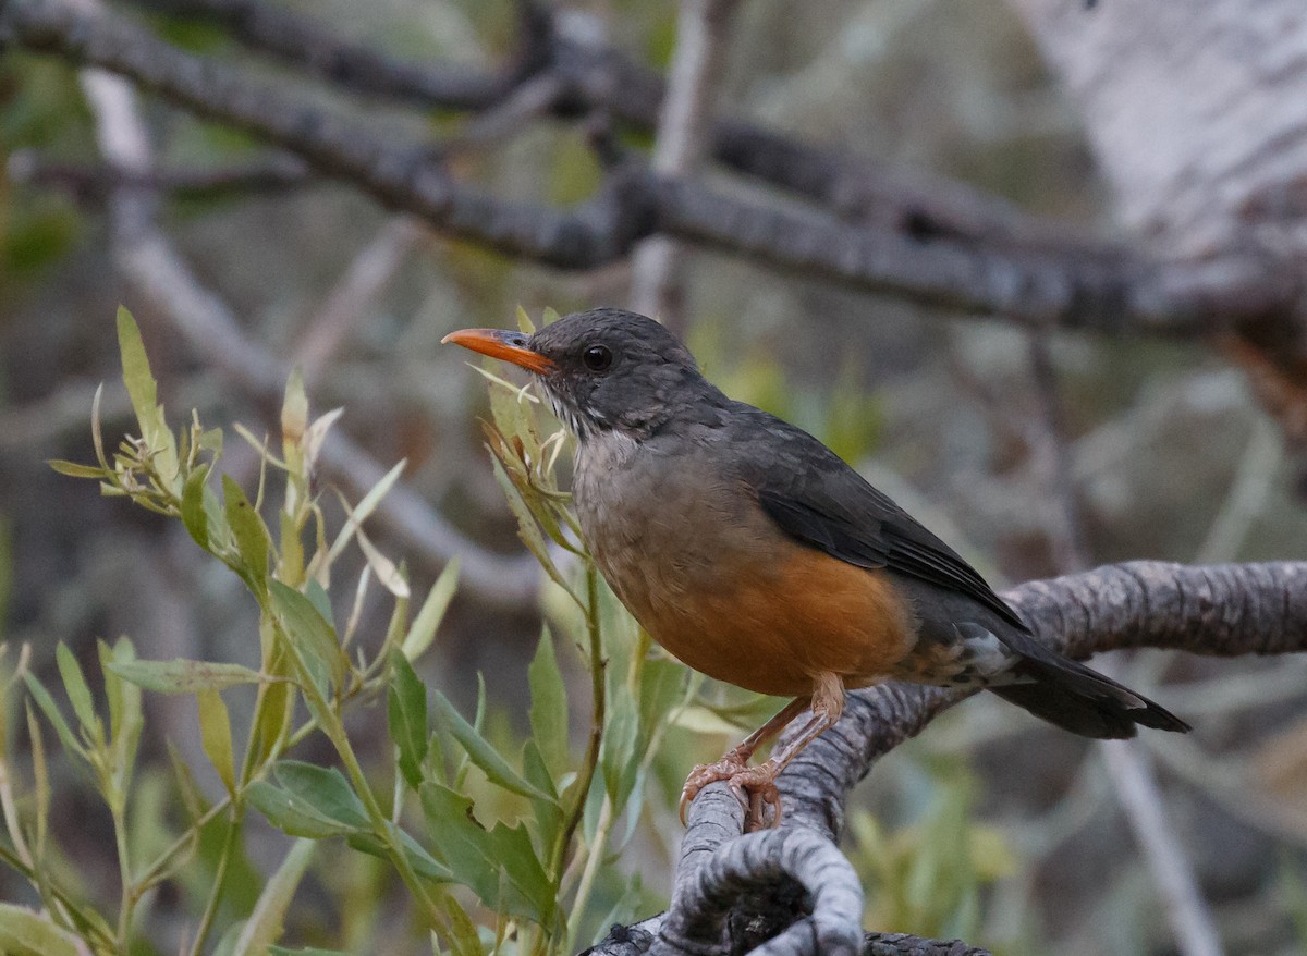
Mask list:
[[[521,320],[529,321],[524,315]],[[687,684],[684,670],[670,662],[647,660],[647,641],[595,572],[569,498],[554,478],[563,444],[557,426],[548,431],[524,392],[506,384],[491,388],[494,422],[486,424],[486,439],[497,477],[523,541],[552,582],[555,599],[546,605],[557,609],[558,597],[566,605],[554,615],[554,627],[572,636],[569,644],[589,670],[589,726],[579,757],[570,746],[570,693],[553,628],[541,633],[529,667],[532,737],[525,743],[506,742],[486,727],[484,696],[468,718],[418,677],[414,662],[437,636],[457,568],[446,568],[413,614],[405,573],[367,538],[363,522],[403,464],[357,505],[346,505],[344,528],[332,537],[312,470],[339,413],[310,419],[303,385],[293,376],[280,453],[237,427],[263,461],[257,487],[247,492],[220,475],[220,431],[204,428],[195,414],[187,427],[170,427],[140,332],[125,310],[118,316],[118,337],[140,434],[108,452],[97,394],[95,462],[51,465],[99,482],[106,495],[179,520],[200,549],[239,577],[259,609],[259,666],[144,661],[123,637],[101,644],[99,701],[82,665],[60,646],[60,703],[59,691],[38,680],[25,658],[18,662],[4,691],[10,701],[20,688],[27,695],[34,782],[24,794],[17,794],[13,773],[3,784],[10,789],[7,797],[21,799],[3,801],[12,841],[0,848],[0,859],[29,879],[44,912],[0,912],[7,951],[72,951],[80,940],[91,952],[127,952],[146,938],[146,893],[166,882],[193,883],[193,871],[201,870],[208,885],[191,952],[327,952],[268,947],[280,940],[311,863],[337,852],[384,861],[406,887],[413,919],[431,934],[435,952],[570,951],[596,935],[599,914],[592,910],[600,880],[622,887],[608,919],[630,918],[640,900],[639,882],[616,872],[617,852],[640,818],[643,780],[664,718],[687,703],[697,684]],[[352,545],[366,559],[356,592],[379,582],[393,614],[379,641],[359,640],[346,653],[329,594],[332,569]],[[252,687],[255,695],[244,741],[234,738],[225,701],[239,687]],[[135,780],[142,691],[195,697],[203,751],[226,791],[207,803],[192,769],[175,757],[171,786],[187,808],[187,825],[153,840],[150,853],[137,848],[131,832],[135,805],[149,798]],[[379,772],[365,774],[344,714],[378,697],[386,704],[392,752]],[[122,878],[116,914],[101,914],[77,887],[55,876],[47,757],[37,714],[65,754],[89,768],[112,816]],[[315,735],[329,742],[337,765],[289,756]],[[9,763],[8,754],[0,759]],[[157,781],[150,788],[156,793]],[[247,866],[242,841],[251,814],[290,841],[257,897],[242,901],[235,874]]]

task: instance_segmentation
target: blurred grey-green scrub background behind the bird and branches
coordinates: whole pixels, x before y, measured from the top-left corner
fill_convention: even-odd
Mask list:
[[[518,40],[507,0],[286,5],[414,61],[484,68]],[[572,29],[597,33],[654,71],[667,68],[676,4],[559,8]],[[383,129],[435,138],[464,121],[327,91],[250,55],[217,26],[148,22],[174,43],[303,85]],[[1077,111],[1002,4],[749,3],[725,55],[720,108],[732,116],[955,178],[1086,232],[1115,231]],[[225,170],[265,155],[246,136],[149,97],[140,110],[161,166]],[[30,644],[42,674],[52,671],[56,641],[90,662],[97,637],[120,633],[142,657],[257,660],[255,609],[176,522],[102,499],[94,483],[55,475],[44,461],[91,458],[99,383],[107,439],[132,427],[112,324],[119,303],[141,324],[161,400],[176,421],[195,407],[208,424],[276,434],[274,397],[251,387],[248,354],[197,347],[175,316],[124,281],[106,193],[95,183],[103,161],[94,118],[72,68],[4,52],[0,149],[0,636]],[[565,121],[521,123],[455,162],[460,178],[499,196],[561,205],[592,195],[601,178],[586,132]],[[315,413],[344,407],[337,428],[366,461],[327,462],[324,488],[340,486],[357,500],[369,475],[379,477],[370,466],[406,458],[405,482],[431,524],[392,517],[372,526],[374,541],[406,563],[418,592],[451,552],[464,562],[423,677],[471,707],[476,675],[485,675],[491,726],[506,739],[520,737],[525,667],[540,629],[538,579],[490,478],[477,424],[486,414],[485,381],[465,354],[438,343],[454,329],[511,325],[519,304],[537,321],[545,307],[567,313],[625,304],[629,265],[586,274],[523,265],[316,178],[229,192],[175,189],[158,221],[252,354],[299,362]],[[1307,511],[1280,431],[1242,372],[1202,343],[1089,333],[1033,342],[999,320],[778,277],[701,249],[687,251],[682,281],[678,325],[711,380],[831,444],[996,586],[1067,569],[1050,533],[1065,517],[1056,478],[1064,466],[1077,546],[1091,563],[1302,554]],[[1050,370],[1060,434],[1052,441]],[[229,435],[223,468],[248,483],[257,458]],[[333,498],[324,496],[325,507],[339,520]],[[379,599],[369,603],[361,633],[384,631],[387,614]],[[578,682],[579,741],[584,675],[576,660],[563,663]],[[1229,951],[1307,951],[1307,662],[1138,653],[1114,666],[1196,727],[1185,739],[1145,734],[1140,747]],[[712,704],[746,703],[725,688],[703,695]],[[203,765],[190,699],[148,695],[146,707],[157,718],[148,757],[166,765],[171,742]],[[677,774],[737,733],[704,714],[669,738],[640,853],[622,862],[643,874],[639,916],[667,901],[680,835]],[[356,718],[357,733],[388,746],[383,713],[371,708]],[[22,752],[21,734],[14,747]],[[314,759],[312,747],[302,756]],[[76,771],[60,764],[51,772],[60,838],[94,892],[116,879],[107,818]],[[154,806],[167,803],[165,781],[159,771]],[[220,786],[216,778],[200,784]],[[876,767],[848,819],[846,849],[868,882],[869,927],[961,935],[1010,953],[1176,952],[1102,751],[1014,708],[975,699],[946,713]],[[971,852],[959,857],[959,845]],[[257,854],[251,865],[259,867]],[[315,878],[323,912],[305,918],[365,919],[324,916],[349,887],[356,900],[376,900],[375,912],[386,912],[375,875],[322,867]],[[0,870],[0,899],[22,893],[21,880]],[[184,908],[167,899],[157,917],[174,906],[183,919]]]

